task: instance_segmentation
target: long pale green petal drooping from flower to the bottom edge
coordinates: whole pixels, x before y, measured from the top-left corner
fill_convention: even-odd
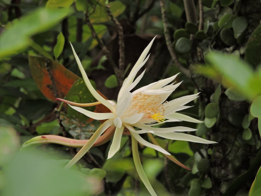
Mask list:
[[[153,196],[157,196],[155,193],[154,189],[152,188],[143,168],[140,162],[140,156],[139,156],[139,151],[138,151],[138,142],[137,140],[132,136],[131,134],[131,140],[132,140],[132,154],[133,154],[133,161],[134,165],[136,167],[136,170],[138,172],[138,175],[140,176],[141,181],[144,183],[145,187],[148,189],[150,194]]]

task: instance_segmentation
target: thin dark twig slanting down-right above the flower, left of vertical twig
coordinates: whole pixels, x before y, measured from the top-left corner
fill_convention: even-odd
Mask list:
[[[85,20],[87,22],[87,25],[89,26],[91,32],[92,32],[92,37],[94,39],[96,39],[96,41],[98,42],[98,44],[100,45],[100,47],[102,48],[102,50],[104,51],[109,63],[111,64],[113,70],[115,73],[118,73],[118,68],[116,67],[111,55],[110,55],[110,52],[109,50],[106,48],[106,46],[104,45],[103,41],[98,37],[96,31],[94,30],[93,26],[92,26],[92,23],[89,19],[89,16],[87,15],[87,12],[86,12],[86,15],[85,15]]]

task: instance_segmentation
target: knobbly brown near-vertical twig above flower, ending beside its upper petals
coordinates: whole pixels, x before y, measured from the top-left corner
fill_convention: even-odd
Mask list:
[[[123,84],[123,80],[124,80],[123,73],[124,73],[124,63],[125,63],[125,54],[124,54],[125,45],[124,45],[123,28],[122,28],[120,22],[114,17],[114,15],[112,15],[109,4],[106,4],[105,9],[106,9],[108,15],[110,16],[111,20],[114,21],[114,23],[116,24],[117,32],[119,35],[120,58],[119,58],[119,68],[118,68],[118,72],[116,73],[116,76],[118,79],[118,83],[121,86]]]

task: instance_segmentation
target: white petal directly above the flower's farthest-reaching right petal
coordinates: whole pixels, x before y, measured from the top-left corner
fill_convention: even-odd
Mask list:
[[[197,130],[197,129],[189,128],[186,126],[175,126],[175,127],[167,127],[167,128],[156,128],[156,127],[150,127],[150,126],[137,126],[137,125],[135,125],[135,126],[140,129],[154,131],[155,134],[167,134],[167,133],[172,133],[172,132],[196,131]]]

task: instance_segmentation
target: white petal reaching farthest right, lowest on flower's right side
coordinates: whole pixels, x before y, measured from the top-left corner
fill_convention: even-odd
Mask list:
[[[197,143],[217,143],[209,140],[205,140],[201,137],[197,137],[190,134],[185,133],[178,133],[178,132],[172,132],[172,133],[166,133],[166,134],[156,134],[157,136],[164,137],[170,140],[183,140],[183,141],[189,141],[189,142],[197,142]]]

